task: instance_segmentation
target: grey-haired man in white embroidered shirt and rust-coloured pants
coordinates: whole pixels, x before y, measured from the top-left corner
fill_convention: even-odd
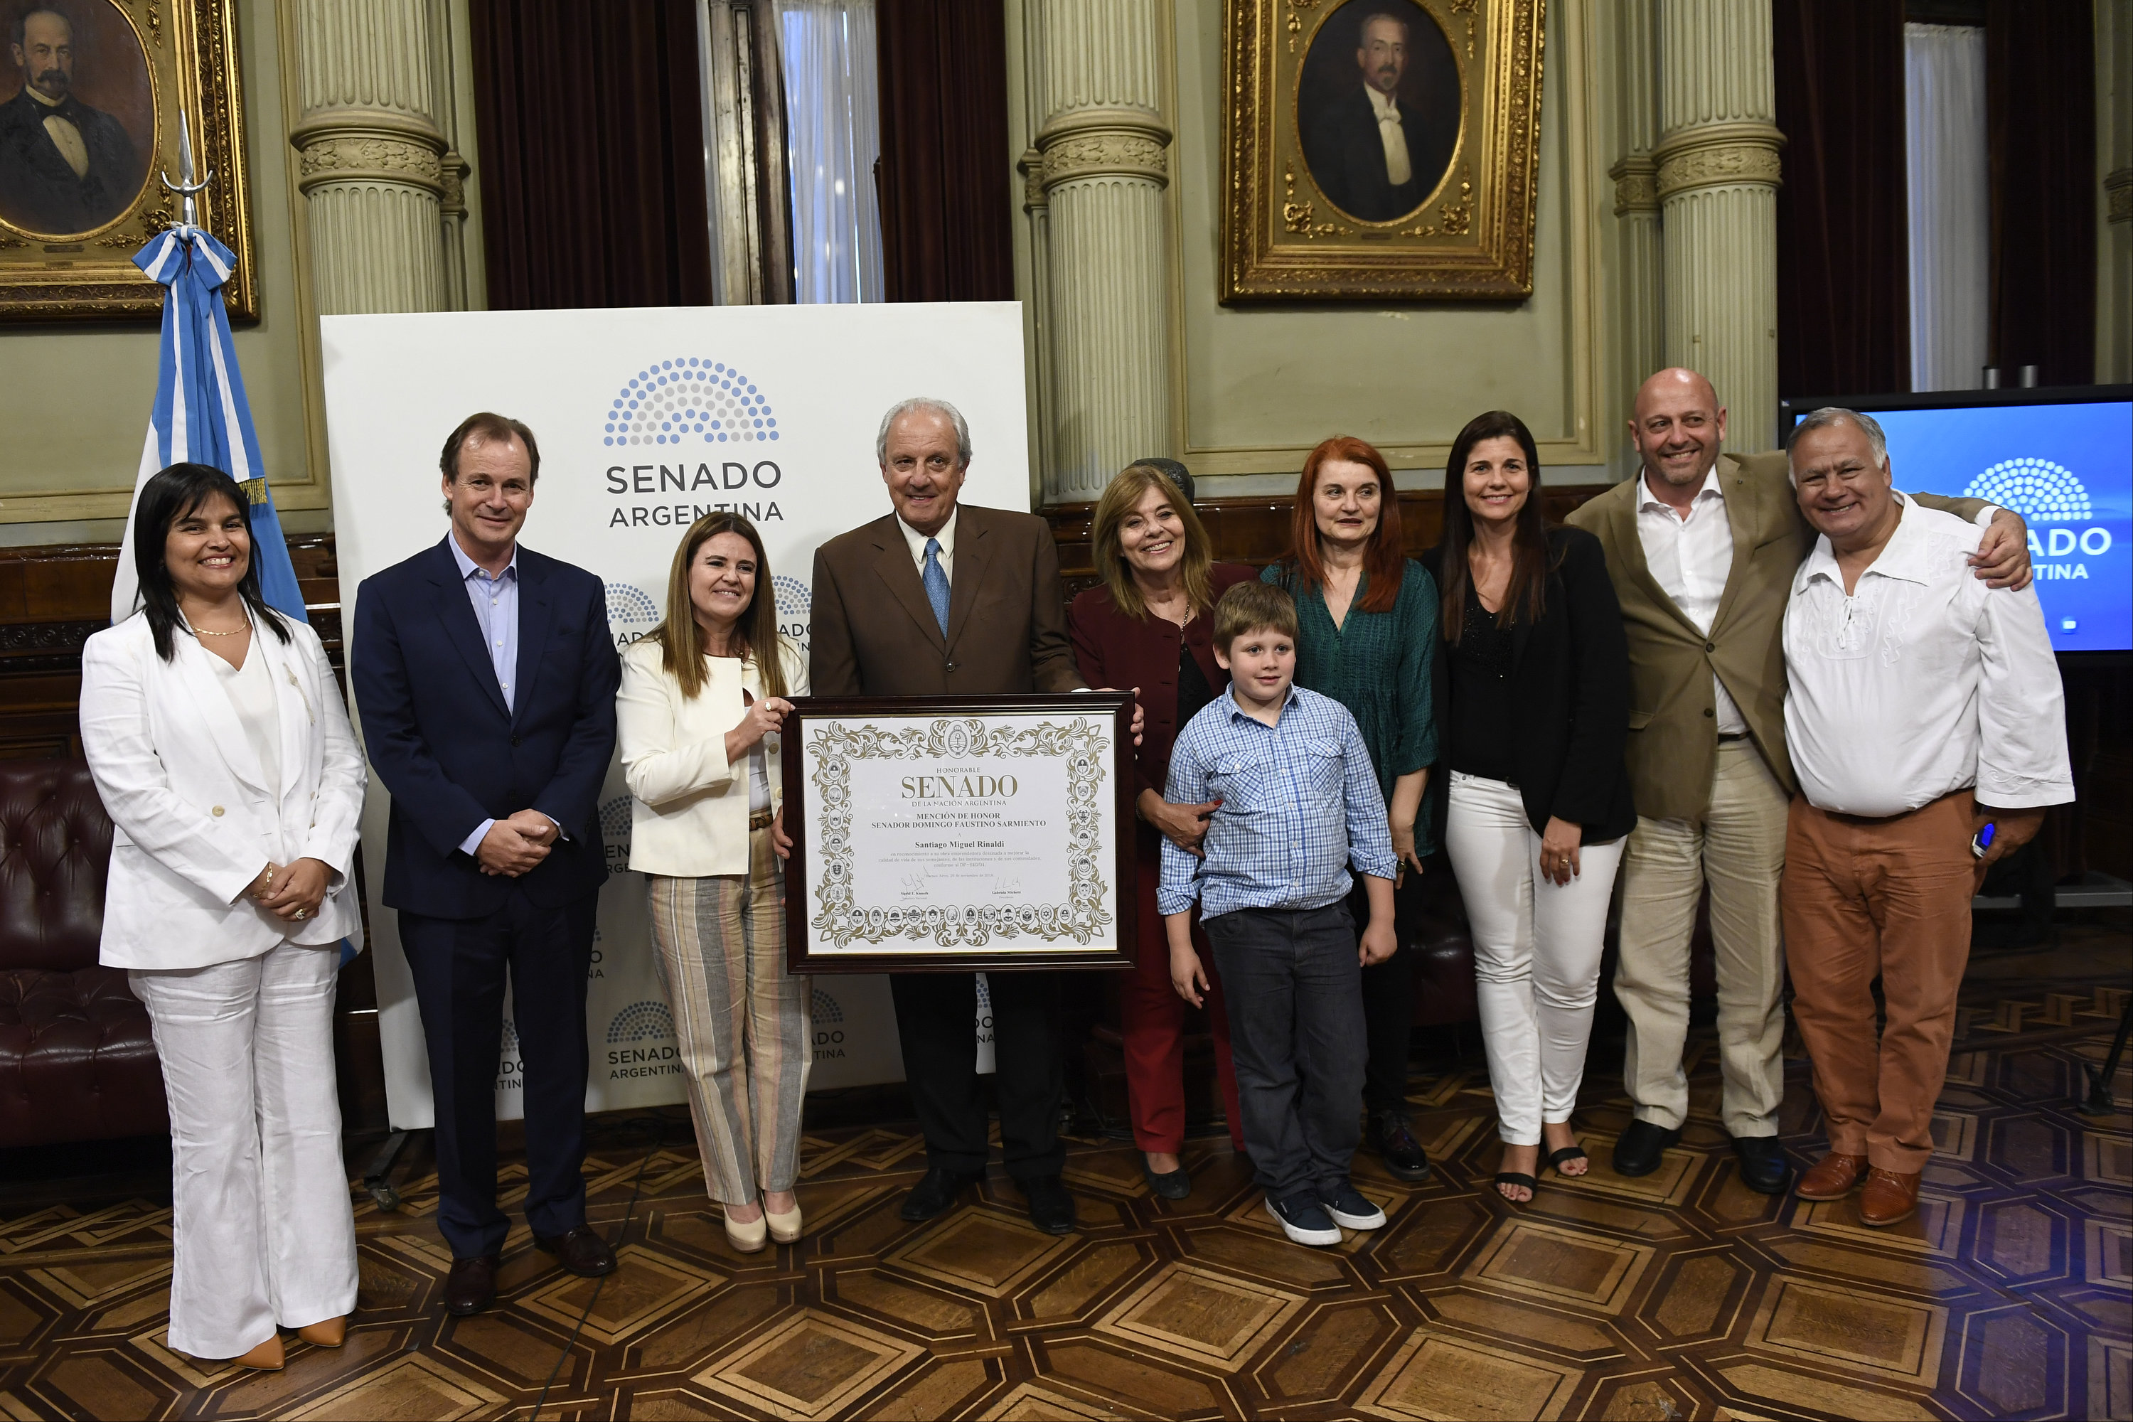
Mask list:
[[[1977,527],[1894,490],[1879,424],[1817,409],[1787,452],[1822,535],[1785,608],[1785,953],[1830,1132],[1798,1194],[1864,1177],[1860,1219],[1888,1226],[1932,1156],[1971,895],[2073,799],[2067,718],[2035,588],[1971,576]]]

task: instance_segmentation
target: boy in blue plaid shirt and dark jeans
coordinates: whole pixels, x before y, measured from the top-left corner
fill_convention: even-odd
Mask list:
[[[1239,582],[1214,610],[1214,657],[1231,684],[1171,750],[1171,804],[1220,802],[1201,853],[1162,840],[1171,985],[1207,991],[1192,902],[1229,993],[1237,1104],[1267,1213],[1299,1245],[1337,1245],[1384,1211],[1348,1179],[1363,1128],[1363,966],[1393,955],[1393,838],[1354,716],[1297,674],[1297,605]],[[1346,898],[1365,876],[1357,940]]]

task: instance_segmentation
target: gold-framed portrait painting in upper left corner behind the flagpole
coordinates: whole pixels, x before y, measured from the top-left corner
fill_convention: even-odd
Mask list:
[[[232,0],[0,0],[0,320],[162,309],[132,256],[179,220],[181,109],[224,298],[256,318]]]

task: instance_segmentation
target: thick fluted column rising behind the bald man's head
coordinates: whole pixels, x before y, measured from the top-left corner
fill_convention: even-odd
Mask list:
[[[1777,435],[1775,115],[1770,0],[1659,0],[1666,362],[1717,386],[1741,452]]]

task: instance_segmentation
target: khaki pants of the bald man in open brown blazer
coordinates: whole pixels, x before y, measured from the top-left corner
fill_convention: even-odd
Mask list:
[[[1785,1096],[1785,791],[1753,742],[1719,742],[1700,821],[1638,819],[1623,857],[1615,996],[1630,1015],[1623,1085],[1636,1119],[1679,1130],[1689,1115],[1681,1051],[1689,1034],[1689,938],[1711,885],[1719,976],[1719,1102],[1728,1134],[1775,1136]]]

